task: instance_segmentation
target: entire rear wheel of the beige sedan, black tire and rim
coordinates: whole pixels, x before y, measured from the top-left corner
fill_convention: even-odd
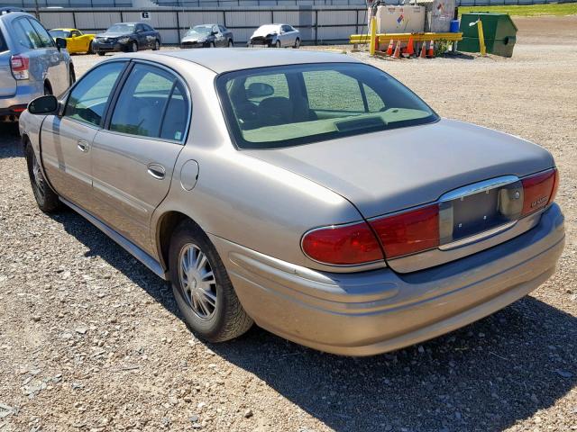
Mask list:
[[[206,234],[184,220],[170,240],[172,291],[189,328],[210,342],[241,336],[252,326],[224,264]]]

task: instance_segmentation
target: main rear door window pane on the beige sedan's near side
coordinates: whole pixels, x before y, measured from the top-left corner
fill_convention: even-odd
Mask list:
[[[159,67],[134,66],[118,96],[110,130],[159,138],[162,113],[176,81],[175,76]]]

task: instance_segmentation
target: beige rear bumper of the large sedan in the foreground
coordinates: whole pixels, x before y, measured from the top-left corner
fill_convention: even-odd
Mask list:
[[[243,308],[264,329],[307,347],[371,356],[480,320],[535,290],[563,252],[553,204],[525,234],[469,257],[399,275],[331,274],[211,236]]]

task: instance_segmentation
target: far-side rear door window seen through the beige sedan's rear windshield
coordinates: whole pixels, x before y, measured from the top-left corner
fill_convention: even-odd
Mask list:
[[[303,72],[308,106],[315,111],[364,112],[359,82],[336,70]],[[327,98],[326,94],[338,95]]]

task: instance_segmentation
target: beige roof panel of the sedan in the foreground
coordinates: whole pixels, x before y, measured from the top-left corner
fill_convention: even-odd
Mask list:
[[[168,56],[192,61],[213,70],[217,74],[252,67],[283,66],[305,63],[358,63],[359,61],[339,53],[307,51],[304,49],[175,49],[157,51],[154,54],[142,53],[131,57],[150,55]]]

